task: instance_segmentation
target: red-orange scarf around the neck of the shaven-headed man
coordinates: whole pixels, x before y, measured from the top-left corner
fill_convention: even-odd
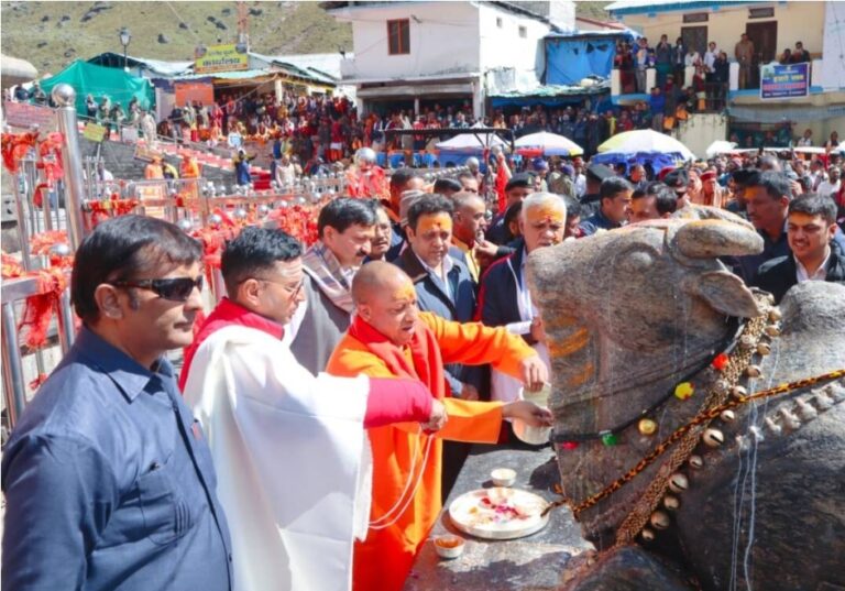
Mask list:
[[[413,365],[399,347],[393,344],[387,337],[358,315],[349,327],[349,335],[364,343],[374,355],[387,364],[387,369],[397,377],[419,380],[428,386],[428,390],[438,400],[446,396],[447,382],[443,374],[443,359],[435,333],[425,322],[417,322],[417,328],[410,340]]]

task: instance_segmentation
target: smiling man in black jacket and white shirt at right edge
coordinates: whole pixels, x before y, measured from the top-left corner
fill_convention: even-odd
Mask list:
[[[787,238],[792,250],[760,266],[755,285],[780,302],[804,281],[845,284],[845,250],[834,240],[836,206],[828,197],[804,195],[789,204]]]

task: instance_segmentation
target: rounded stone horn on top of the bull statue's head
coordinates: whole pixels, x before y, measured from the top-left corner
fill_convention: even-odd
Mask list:
[[[715,219],[684,223],[676,232],[673,243],[682,254],[691,259],[762,252],[762,238],[754,229],[743,223]]]

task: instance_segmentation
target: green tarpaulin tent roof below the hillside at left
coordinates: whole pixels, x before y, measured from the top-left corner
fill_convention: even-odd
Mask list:
[[[86,114],[85,97],[94,95],[99,103],[102,97],[109,97],[111,103],[120,102],[128,111],[129,101],[138,97],[142,109],[150,109],[155,102],[155,92],[146,78],[127,74],[122,69],[95,66],[77,59],[65,69],[41,81],[41,87],[50,95],[57,84],[66,83],[76,89],[76,111]]]

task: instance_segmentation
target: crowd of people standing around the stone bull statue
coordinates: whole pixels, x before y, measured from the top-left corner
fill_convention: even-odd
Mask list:
[[[105,221],[75,256],[81,331],[3,452],[4,584],[398,591],[465,457],[453,442],[551,422],[520,394],[550,363],[530,253],[709,206],[760,234],[761,253],[724,262],[779,302],[845,283],[842,166],[512,169],[498,153],[495,172],[471,162],[434,184],[400,168],[374,198],[326,204],[307,249],[243,229],[196,330],[199,243],[153,218]],[[356,154],[358,186],[378,171]],[[178,347],[177,383],[163,355]]]

